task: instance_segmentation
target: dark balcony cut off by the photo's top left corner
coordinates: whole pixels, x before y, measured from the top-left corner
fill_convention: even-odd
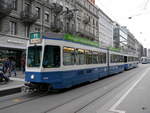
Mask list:
[[[0,0],[0,18],[8,16],[12,10],[12,1]]]

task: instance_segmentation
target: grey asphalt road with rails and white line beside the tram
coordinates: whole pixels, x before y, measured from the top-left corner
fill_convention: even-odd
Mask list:
[[[0,113],[150,113],[150,64],[68,91],[0,97]]]

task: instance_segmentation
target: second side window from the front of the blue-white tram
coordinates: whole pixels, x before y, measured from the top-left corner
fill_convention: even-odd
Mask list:
[[[76,64],[85,64],[85,51],[83,49],[76,49]]]

